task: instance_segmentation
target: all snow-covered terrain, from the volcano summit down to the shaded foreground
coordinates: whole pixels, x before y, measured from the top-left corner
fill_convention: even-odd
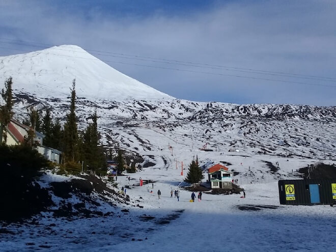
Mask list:
[[[174,99],[74,46],[0,61],[0,81],[13,77],[15,119],[22,121],[34,106],[52,108],[53,118],[64,123],[76,78],[79,129],[96,109],[107,150],[117,146],[153,164],[130,175],[131,205],[102,205],[101,211],[114,213],[104,217],[69,220],[44,213],[32,223],[0,223],[0,251],[335,250],[336,208],[282,206],[277,191],[278,179],[297,178],[307,164],[336,162],[335,107]],[[213,151],[200,150],[204,145]],[[238,173],[234,179],[246,198],[204,193],[201,202],[190,203],[191,193],[183,189],[179,202],[170,198],[195,156],[201,165],[221,162]],[[65,180],[48,176],[42,186]],[[154,188],[137,186],[139,177],[156,181]],[[117,182],[119,188],[128,184],[126,176]]]

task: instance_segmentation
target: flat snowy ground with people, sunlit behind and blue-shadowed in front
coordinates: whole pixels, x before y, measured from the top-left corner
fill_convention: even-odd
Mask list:
[[[243,158],[244,163],[238,158]],[[239,166],[256,169],[257,160],[270,158],[232,156],[227,161],[236,164],[236,171],[242,171]],[[305,166],[305,161],[280,160],[280,171],[286,178],[293,178],[291,169]],[[185,168],[184,175],[187,164]],[[235,177],[246,191],[245,199],[239,194],[203,193],[201,202],[190,203],[191,192],[178,187],[184,178],[180,169],[157,165],[130,174],[129,182],[127,176],[118,177],[119,188],[129,183],[126,193],[131,202],[144,208],[120,205],[114,215],[107,217],[70,221],[46,215],[38,218],[39,225],[11,224],[3,228],[13,233],[0,233],[0,250],[333,251],[336,248],[335,207],[279,205],[277,181],[272,176],[252,180],[248,175]],[[140,177],[155,182],[138,186]],[[162,192],[161,199],[158,189]],[[174,195],[171,198],[172,189],[180,190],[179,202]]]

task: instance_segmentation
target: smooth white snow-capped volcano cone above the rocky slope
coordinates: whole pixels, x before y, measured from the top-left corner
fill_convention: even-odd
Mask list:
[[[79,97],[98,99],[157,99],[171,96],[157,91],[105,64],[75,45],[54,46],[0,57],[0,82],[13,77],[14,90],[48,97],[69,95],[76,79]]]

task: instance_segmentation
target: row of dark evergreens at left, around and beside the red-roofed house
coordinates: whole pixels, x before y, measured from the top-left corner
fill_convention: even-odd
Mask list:
[[[51,108],[47,108],[41,118],[41,111],[34,107],[29,109],[29,118],[22,123],[29,126],[27,136],[22,145],[35,146],[35,131],[45,135],[43,145],[49,148],[62,151],[61,170],[70,173],[79,173],[82,169],[106,173],[106,160],[104,150],[99,143],[97,125],[97,111],[91,115],[92,122],[81,132],[77,129],[76,116],[76,91],[75,79],[72,81],[71,100],[66,121],[62,127],[58,119],[53,120]],[[2,98],[5,104],[0,107],[0,143],[7,142],[8,125],[14,115],[13,113],[13,79],[9,77],[5,81],[5,89],[2,89]]]

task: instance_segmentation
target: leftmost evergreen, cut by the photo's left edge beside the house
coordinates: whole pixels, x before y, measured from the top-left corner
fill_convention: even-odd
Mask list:
[[[11,122],[13,117],[13,100],[12,100],[12,77],[9,77],[5,80],[5,90],[2,89],[1,96],[5,101],[5,105],[0,107],[0,144],[3,142],[7,142],[7,131],[8,131],[8,124]]]

